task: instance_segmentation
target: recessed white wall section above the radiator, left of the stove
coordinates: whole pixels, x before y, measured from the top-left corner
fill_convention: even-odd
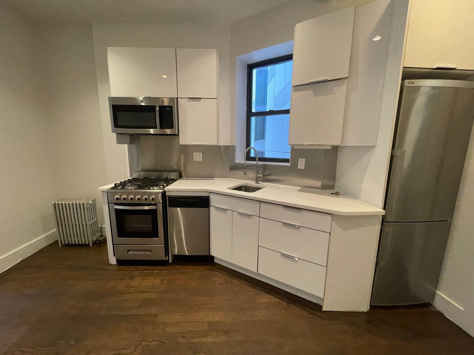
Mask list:
[[[38,34],[41,105],[51,130],[55,194],[95,197],[103,224],[97,187],[111,181],[105,171],[92,28],[40,27]]]

